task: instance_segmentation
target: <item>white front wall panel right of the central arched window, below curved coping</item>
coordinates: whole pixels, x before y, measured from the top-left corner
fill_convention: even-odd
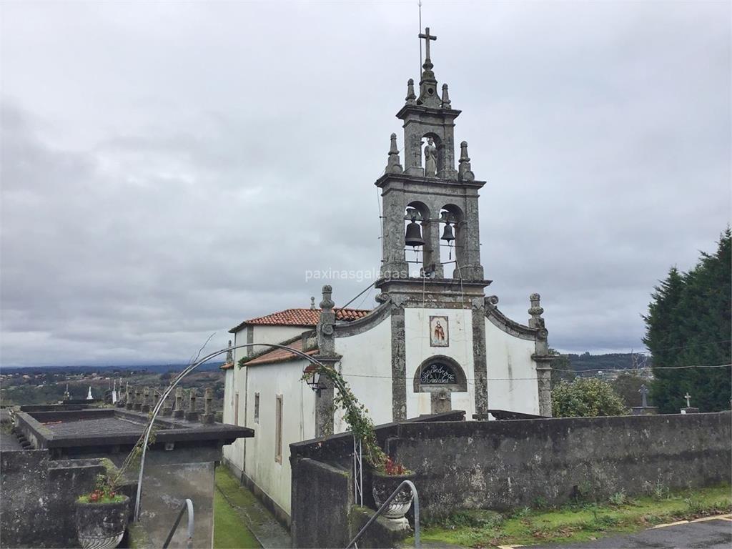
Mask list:
[[[539,414],[534,341],[507,334],[485,319],[488,408]]]

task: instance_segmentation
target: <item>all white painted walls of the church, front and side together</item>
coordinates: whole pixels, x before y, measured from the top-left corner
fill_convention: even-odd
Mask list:
[[[430,346],[430,316],[448,318],[449,345]],[[472,313],[469,309],[416,308],[404,310],[406,354],[407,417],[430,414],[430,392],[415,392],[414,378],[425,361],[447,356],[463,369],[466,392],[449,395],[450,408],[466,412],[471,419],[475,410],[475,371]],[[485,318],[488,365],[488,403],[490,408],[539,414],[534,339],[522,338],[496,326]],[[282,343],[307,331],[300,326],[266,326],[255,328],[255,343]],[[236,343],[246,341],[247,328],[236,333]],[[259,339],[261,337],[262,339]],[[267,338],[267,339],[265,339]],[[235,362],[246,349],[237,349]],[[335,352],[341,356],[338,367],[354,395],[369,410],[376,425],[392,422],[392,323],[389,314],[354,335],[335,338]],[[275,364],[235,366],[226,372],[224,421],[234,422],[239,394],[239,425],[251,427],[253,438],[239,439],[224,447],[224,458],[236,471],[244,474],[266,495],[289,513],[291,509],[291,468],[289,444],[315,437],[315,393],[301,381],[309,362],[294,359]],[[259,395],[259,416],[255,419],[255,395]],[[275,407],[277,397],[283,402],[282,456],[276,459]],[[343,414],[336,411],[334,432],[348,426]]]

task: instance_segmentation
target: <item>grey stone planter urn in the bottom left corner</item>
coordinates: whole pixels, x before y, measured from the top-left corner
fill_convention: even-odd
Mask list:
[[[119,545],[127,529],[130,498],[113,503],[76,505],[76,534],[83,549],[113,549]]]

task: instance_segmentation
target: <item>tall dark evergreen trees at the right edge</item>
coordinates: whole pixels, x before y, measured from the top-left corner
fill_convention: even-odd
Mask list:
[[[731,360],[732,238],[722,233],[717,253],[702,253],[686,274],[673,267],[651,295],[643,343],[653,354],[651,398],[660,411],[678,413],[684,395],[701,411],[730,408],[732,368],[663,367],[729,365]]]

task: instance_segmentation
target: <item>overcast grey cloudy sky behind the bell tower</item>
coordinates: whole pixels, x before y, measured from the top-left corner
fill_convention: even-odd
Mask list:
[[[423,4],[487,293],[523,323],[542,294],[563,351],[642,348],[654,284],[730,217],[730,4]],[[378,267],[416,1],[1,10],[2,365],[185,361],[319,302],[309,269]]]

